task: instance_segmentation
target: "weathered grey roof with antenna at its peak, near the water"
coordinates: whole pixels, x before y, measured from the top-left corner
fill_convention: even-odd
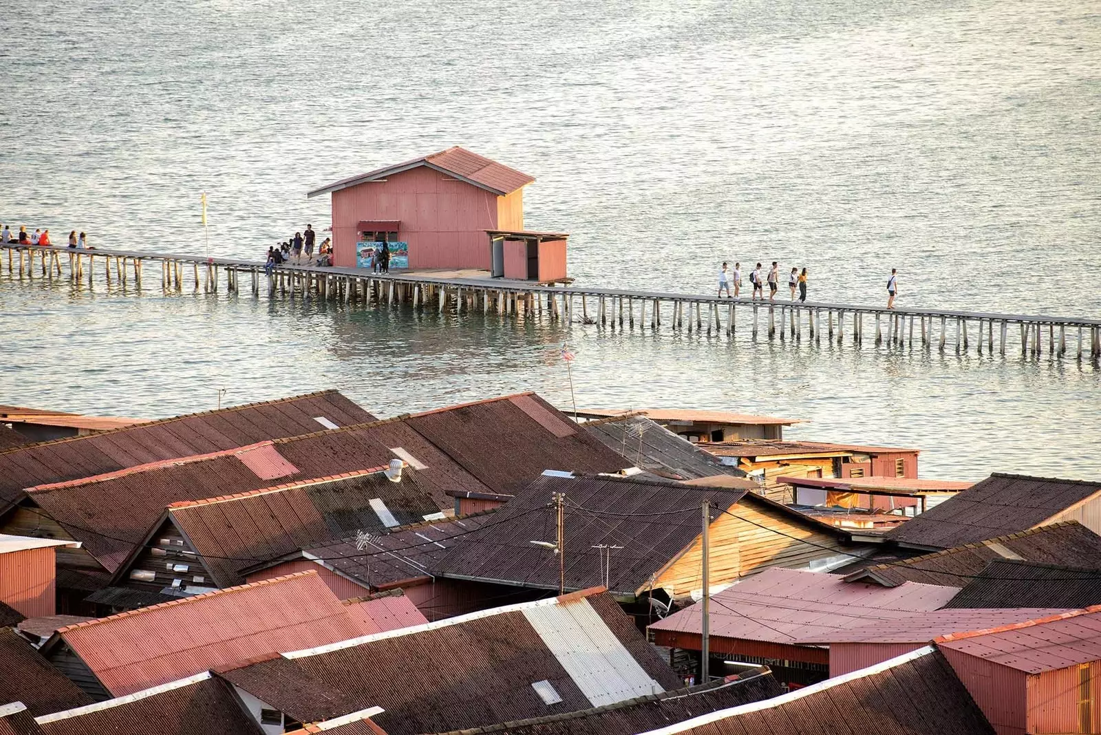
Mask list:
[[[634,467],[669,480],[745,475],[645,416],[606,418],[581,426]]]

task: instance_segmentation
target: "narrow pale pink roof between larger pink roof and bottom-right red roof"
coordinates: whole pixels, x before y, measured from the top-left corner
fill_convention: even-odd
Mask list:
[[[1050,607],[936,610],[895,618],[890,626],[874,623],[808,634],[802,636],[798,643],[814,646],[842,643],[927,644],[933,643],[938,636],[951,633],[996,628],[1010,623],[1023,623],[1066,612],[1068,612],[1066,608]]]

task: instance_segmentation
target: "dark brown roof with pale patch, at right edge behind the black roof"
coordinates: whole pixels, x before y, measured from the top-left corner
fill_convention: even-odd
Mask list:
[[[868,580],[884,586],[894,586],[907,580],[962,586],[980,574],[993,559],[1022,559],[1051,564],[1101,559],[1101,536],[1077,520],[1064,520],[919,557],[871,564],[849,572],[844,579],[850,582]]]

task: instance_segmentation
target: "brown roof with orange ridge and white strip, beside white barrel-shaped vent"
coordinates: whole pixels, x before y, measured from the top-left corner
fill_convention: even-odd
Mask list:
[[[244,582],[240,569],[291,551],[335,541],[358,530],[378,534],[394,524],[410,524],[439,512],[434,489],[425,489],[411,468],[391,481],[374,468],[287,483],[221,497],[172,503],[172,523],[203,560],[217,586]],[[440,501],[446,504],[446,500]],[[127,572],[162,524],[134,547],[116,581]]]

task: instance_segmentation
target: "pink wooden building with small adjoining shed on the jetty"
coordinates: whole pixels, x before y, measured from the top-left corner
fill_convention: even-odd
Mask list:
[[[524,186],[535,180],[453,146],[329,184],[334,264],[370,267],[386,242],[391,267],[478,268],[542,283],[566,278],[562,232],[524,230]]]

